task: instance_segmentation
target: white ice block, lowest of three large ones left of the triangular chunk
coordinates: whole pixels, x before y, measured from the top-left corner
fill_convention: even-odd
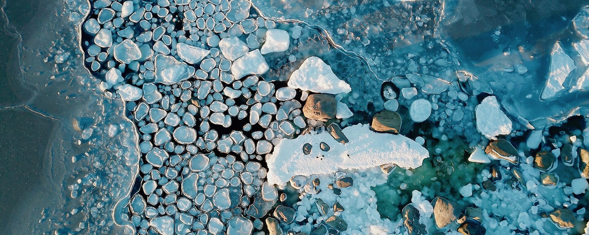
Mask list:
[[[237,59],[231,65],[231,74],[235,79],[241,79],[246,75],[257,74],[261,75],[266,72],[270,67],[266,63],[266,59],[260,53],[259,49],[247,52],[241,58]]]

